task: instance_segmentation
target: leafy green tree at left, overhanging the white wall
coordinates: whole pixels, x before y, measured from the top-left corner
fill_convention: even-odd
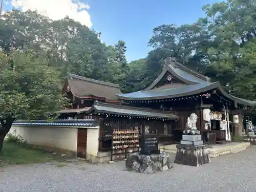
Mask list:
[[[33,52],[0,53],[0,152],[15,119],[45,119],[67,104],[60,74]]]

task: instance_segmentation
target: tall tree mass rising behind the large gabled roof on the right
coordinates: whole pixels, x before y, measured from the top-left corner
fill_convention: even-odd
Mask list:
[[[163,58],[171,56],[220,81],[229,93],[254,100],[256,1],[228,0],[202,9],[206,16],[194,24],[154,28],[146,75],[152,82]],[[251,112],[255,116],[254,109]]]

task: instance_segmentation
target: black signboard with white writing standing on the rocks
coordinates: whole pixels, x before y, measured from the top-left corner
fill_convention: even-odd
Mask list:
[[[155,134],[145,134],[141,138],[140,154],[150,155],[158,151],[158,137]]]

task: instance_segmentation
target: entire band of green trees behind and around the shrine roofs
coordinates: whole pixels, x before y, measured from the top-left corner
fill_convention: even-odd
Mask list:
[[[132,62],[126,60],[123,40],[105,45],[101,33],[69,17],[53,21],[33,11],[5,12],[0,19],[2,122],[43,118],[59,108],[64,102],[59,83],[67,73],[118,83],[123,93],[142,90],[160,74],[168,56],[219,80],[229,93],[254,99],[256,0],[228,0],[202,9],[205,17],[194,24],[154,28],[148,41],[152,50]]]

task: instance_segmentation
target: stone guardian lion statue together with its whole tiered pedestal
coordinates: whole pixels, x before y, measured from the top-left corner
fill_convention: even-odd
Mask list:
[[[180,144],[176,145],[177,153],[174,163],[199,166],[210,162],[208,145],[204,145],[200,131],[197,130],[197,115],[192,113],[187,118],[187,126]]]

